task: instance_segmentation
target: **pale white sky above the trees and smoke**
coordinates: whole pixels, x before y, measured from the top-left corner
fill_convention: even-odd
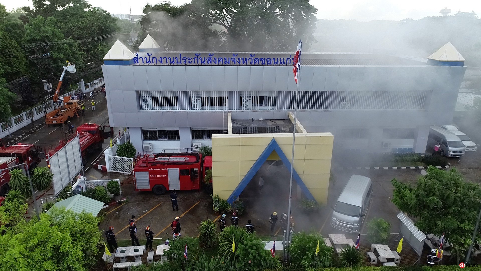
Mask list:
[[[31,6],[30,0],[1,0],[11,10]],[[111,14],[128,14],[132,4],[132,14],[142,14],[146,3],[156,4],[163,1],[146,0],[89,0],[95,7],[101,7]],[[172,4],[181,5],[188,0],[170,0]],[[405,18],[421,19],[426,16],[439,16],[445,7],[456,11],[471,12],[481,15],[480,0],[310,0],[317,8],[319,19],[355,19],[358,21],[395,20]],[[451,15],[452,15],[451,14]]]

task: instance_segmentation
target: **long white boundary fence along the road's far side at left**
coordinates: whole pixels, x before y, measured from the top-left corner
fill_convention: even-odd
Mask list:
[[[93,82],[90,82],[88,84],[84,84],[85,87],[81,88],[81,83],[83,83],[83,80],[80,81],[77,84],[77,90],[76,91],[71,91],[68,93],[65,93],[64,96],[70,96],[73,94],[76,94],[80,91],[82,92],[90,92],[94,90],[95,88],[101,86],[103,84],[103,77],[94,80]],[[88,86],[88,88],[86,88]],[[46,99],[50,99],[53,97],[53,95],[49,95],[46,97]],[[46,108],[43,107],[43,105],[39,105],[35,108],[32,108],[31,110],[28,109],[26,112],[23,112],[20,115],[14,116],[10,118],[7,122],[2,122],[0,123],[0,138],[3,138],[5,136],[10,135],[11,133],[18,131],[22,129],[23,127],[27,126],[28,124],[32,123],[32,115],[33,115],[33,120],[37,121],[39,119],[42,119],[45,117],[45,114],[50,113],[53,111],[54,105],[52,100],[45,101],[45,106]]]

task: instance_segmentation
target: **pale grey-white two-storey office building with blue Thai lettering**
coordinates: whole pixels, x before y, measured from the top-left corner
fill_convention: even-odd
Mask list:
[[[161,52],[150,35],[139,51],[117,41],[102,70],[110,125],[128,127],[140,152],[210,145],[228,112],[255,126],[294,111],[293,53]],[[307,132],[331,132],[334,151],[423,153],[429,126],[452,123],[464,61],[451,43],[425,59],[303,53],[297,117]]]

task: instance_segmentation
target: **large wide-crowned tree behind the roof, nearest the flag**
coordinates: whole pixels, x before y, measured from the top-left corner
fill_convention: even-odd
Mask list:
[[[292,51],[313,41],[317,10],[309,0],[192,0],[198,17],[220,28],[229,51]]]

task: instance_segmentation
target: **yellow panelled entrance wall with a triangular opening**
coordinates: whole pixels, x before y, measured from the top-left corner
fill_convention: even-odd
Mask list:
[[[227,200],[273,138],[291,162],[292,134],[212,135],[213,193]],[[333,140],[330,133],[296,133],[294,169],[318,203],[327,203]]]

